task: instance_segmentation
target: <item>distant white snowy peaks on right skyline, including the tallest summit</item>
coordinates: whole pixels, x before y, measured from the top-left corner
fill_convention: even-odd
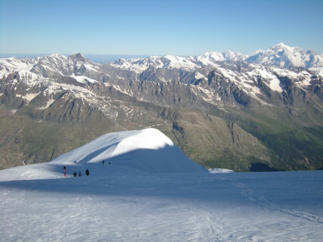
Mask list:
[[[219,66],[222,61],[246,61],[254,64],[274,65],[278,67],[323,67],[323,54],[317,55],[313,50],[303,50],[300,47],[290,47],[283,43],[272,46],[267,50],[258,50],[250,55],[242,55],[239,52],[219,53],[209,51],[195,57],[178,56],[151,56],[145,59],[119,59],[113,63],[114,66],[135,71],[143,72],[149,66],[163,69],[183,69],[193,71],[206,65]]]

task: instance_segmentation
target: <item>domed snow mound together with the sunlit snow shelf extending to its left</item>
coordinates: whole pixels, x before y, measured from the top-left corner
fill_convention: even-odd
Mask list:
[[[104,165],[102,161],[104,160]],[[60,155],[49,163],[18,166],[0,171],[0,181],[61,178],[89,168],[91,175],[107,172],[196,173],[208,172],[189,160],[171,139],[149,128],[110,133]]]

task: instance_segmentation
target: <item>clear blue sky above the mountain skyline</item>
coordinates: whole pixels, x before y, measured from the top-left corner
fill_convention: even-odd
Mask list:
[[[323,0],[0,0],[0,53],[323,53]]]

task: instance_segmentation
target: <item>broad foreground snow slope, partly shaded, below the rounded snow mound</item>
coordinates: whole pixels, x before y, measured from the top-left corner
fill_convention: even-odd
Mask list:
[[[308,241],[323,236],[321,171],[294,172],[295,178],[292,172],[133,174],[116,165],[95,165],[107,176],[92,172],[0,182],[1,240]]]

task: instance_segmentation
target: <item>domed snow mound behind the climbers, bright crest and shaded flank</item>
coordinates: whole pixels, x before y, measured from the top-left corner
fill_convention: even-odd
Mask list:
[[[201,172],[202,166],[190,161],[171,139],[149,128],[111,133],[67,152],[52,163],[105,163],[128,166],[145,172]]]

